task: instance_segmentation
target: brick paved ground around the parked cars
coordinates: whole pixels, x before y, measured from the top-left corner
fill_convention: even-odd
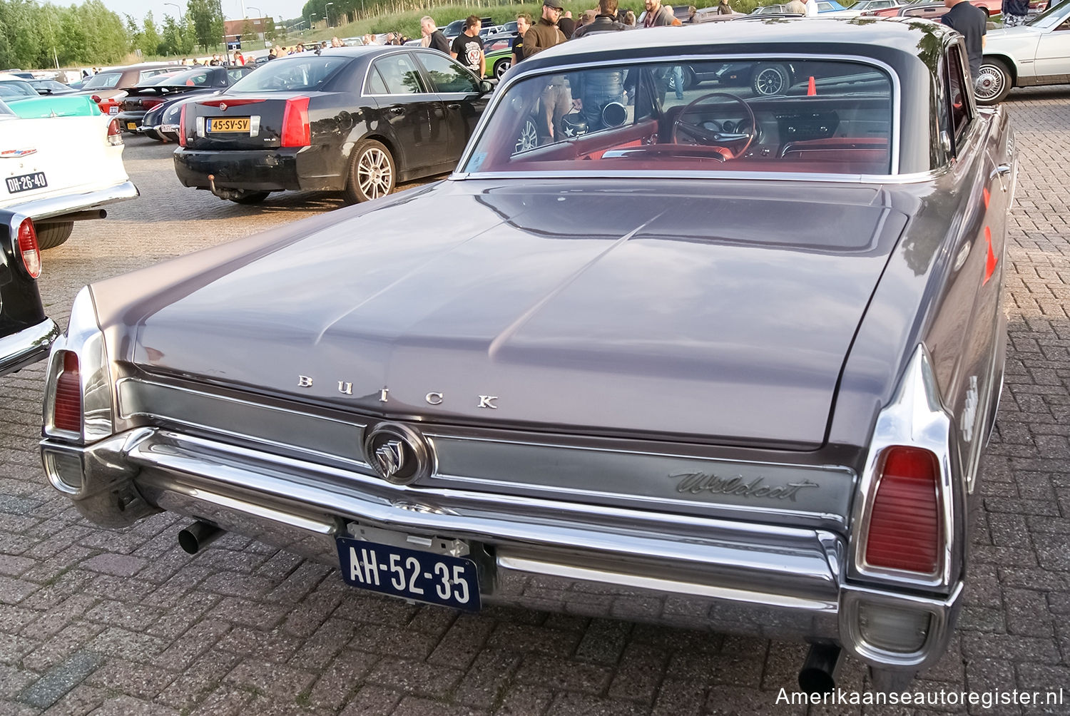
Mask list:
[[[1023,166],[1007,386],[966,606],[921,689],[1070,686],[1070,90],[1015,91],[1008,107]],[[42,290],[61,323],[83,283],[338,205],[223,202],[179,187],[168,149],[142,140],[126,165],[143,196],[45,255]],[[98,530],[42,475],[42,378],[35,366],[0,381],[4,714],[895,713],[776,706],[799,644],[498,608],[458,615],[360,594],[233,535],[189,557],[175,544],[184,522],[166,515]],[[841,681],[861,687],[862,673],[849,662]]]

